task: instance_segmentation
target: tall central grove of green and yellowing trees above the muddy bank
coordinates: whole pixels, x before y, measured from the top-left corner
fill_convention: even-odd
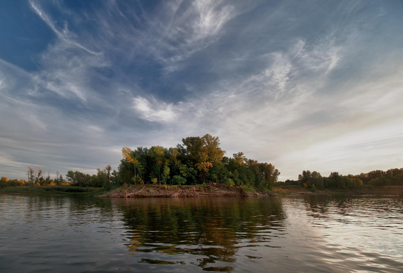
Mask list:
[[[270,187],[277,169],[270,163],[247,159],[242,152],[225,157],[218,136],[188,136],[177,147],[122,149],[118,184],[201,184],[204,182]]]

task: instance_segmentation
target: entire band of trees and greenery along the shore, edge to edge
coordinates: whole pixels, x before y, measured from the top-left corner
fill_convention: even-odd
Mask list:
[[[203,185],[216,185],[213,188],[217,192],[228,187],[234,187],[237,192],[268,192],[273,187],[283,189],[293,187],[295,191],[304,188],[314,192],[324,189],[373,190],[374,187],[403,185],[403,168],[374,170],[347,176],[332,172],[328,177],[321,176],[316,171],[304,170],[297,180],[278,182],[280,172],[271,163],[248,159],[242,152],[234,153],[232,157],[224,156],[225,153],[220,148],[218,136],[210,134],[202,137],[189,136],[182,139],[181,144],[170,148],[156,145],[132,150],[123,147],[123,158],[117,171],[107,165],[104,169],[98,168],[96,174],[69,170],[65,179],[59,172],[56,172],[56,176],[52,179],[49,172],[48,176],[44,177],[41,168],[34,170],[28,167],[27,181],[2,177],[0,192],[8,190],[8,192],[27,193],[91,194],[114,188],[118,188],[115,193],[119,190],[136,192],[137,187],[133,185],[147,184],[158,185],[154,188],[145,187],[158,191],[176,187],[177,191],[186,195],[189,194],[189,188],[184,186],[193,186],[194,192],[199,191]],[[81,190],[83,188],[91,190]],[[182,196],[181,194],[179,195]]]

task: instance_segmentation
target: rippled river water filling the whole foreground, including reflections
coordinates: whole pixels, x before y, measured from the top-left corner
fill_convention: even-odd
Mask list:
[[[0,194],[1,272],[402,272],[402,195]]]

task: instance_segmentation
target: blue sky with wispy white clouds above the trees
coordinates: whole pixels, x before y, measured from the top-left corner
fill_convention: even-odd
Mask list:
[[[2,1],[0,176],[219,136],[226,156],[403,167],[403,1]]]

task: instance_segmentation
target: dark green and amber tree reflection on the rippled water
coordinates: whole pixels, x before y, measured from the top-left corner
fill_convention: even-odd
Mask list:
[[[258,250],[260,246],[270,246],[271,238],[284,231],[281,203],[267,198],[150,198],[114,202],[127,225],[127,249],[150,256],[139,263],[191,263],[206,271],[231,271],[231,264],[240,256],[239,248]]]

